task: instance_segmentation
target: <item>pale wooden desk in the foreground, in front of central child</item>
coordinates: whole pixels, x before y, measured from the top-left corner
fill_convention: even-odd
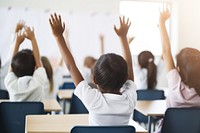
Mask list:
[[[88,125],[88,114],[27,115],[25,132],[69,133],[75,125]],[[147,133],[147,130],[133,120],[131,120],[130,125],[136,128],[136,133]]]

